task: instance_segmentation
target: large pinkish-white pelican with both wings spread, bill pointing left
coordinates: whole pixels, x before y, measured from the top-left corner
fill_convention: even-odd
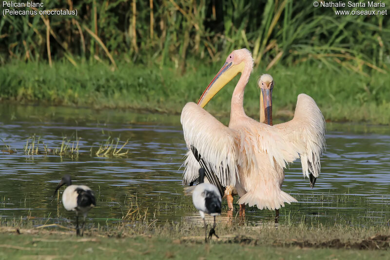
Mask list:
[[[325,146],[325,120],[315,101],[305,94],[298,96],[294,118],[288,122],[271,126],[249,118],[244,112],[243,99],[252,67],[253,59],[247,49],[233,51],[198,105],[190,102],[184,106],[181,113],[184,139],[195,157],[187,153],[183,183],[197,178],[199,161],[207,178],[217,187],[235,187],[239,204],[274,210],[285,202],[296,202],[281,190],[286,163],[300,157],[303,175],[310,178],[312,185],[318,177]],[[230,123],[226,127],[203,107],[238,73],[241,77],[234,88]],[[271,85],[266,89],[262,90],[264,116],[271,122]],[[224,193],[229,196],[228,188]]]

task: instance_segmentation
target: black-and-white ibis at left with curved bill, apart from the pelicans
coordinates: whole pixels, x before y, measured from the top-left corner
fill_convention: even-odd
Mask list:
[[[62,193],[62,204],[66,210],[72,210],[76,212],[76,234],[82,236],[84,233],[85,218],[88,211],[96,206],[95,196],[92,190],[85,185],[72,185],[72,180],[69,175],[64,175],[59,182],[54,195],[56,195],[58,189],[66,184]],[[78,228],[78,213],[83,215],[83,222],[81,225],[81,234]]]

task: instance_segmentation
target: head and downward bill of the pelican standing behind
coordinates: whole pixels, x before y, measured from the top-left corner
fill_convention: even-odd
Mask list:
[[[260,122],[272,125],[272,90],[273,78],[270,74],[261,75],[257,86],[260,94]]]

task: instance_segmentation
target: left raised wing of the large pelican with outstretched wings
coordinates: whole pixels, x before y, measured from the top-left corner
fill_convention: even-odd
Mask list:
[[[218,184],[213,180],[214,174],[220,185],[234,186],[235,181],[239,180],[236,132],[193,102],[184,106],[180,121],[183,125],[187,147],[200,166],[205,168],[206,176],[210,182],[218,187]],[[188,179],[189,181],[186,181],[188,183],[196,180],[195,175],[198,174],[198,171],[195,170],[196,166],[194,165],[196,165],[195,161],[188,152],[184,162],[184,179]],[[188,174],[188,178],[186,174]],[[183,180],[184,182],[185,180]]]

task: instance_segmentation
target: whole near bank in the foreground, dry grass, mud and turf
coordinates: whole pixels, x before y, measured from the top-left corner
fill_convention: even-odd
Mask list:
[[[152,223],[92,228],[83,238],[58,227],[0,226],[0,259],[372,259],[386,257],[388,227],[229,226],[219,224],[219,239],[204,243],[200,224]],[[63,250],[66,248],[66,250]],[[299,250],[299,249],[304,250]],[[364,249],[364,250],[362,250]]]

